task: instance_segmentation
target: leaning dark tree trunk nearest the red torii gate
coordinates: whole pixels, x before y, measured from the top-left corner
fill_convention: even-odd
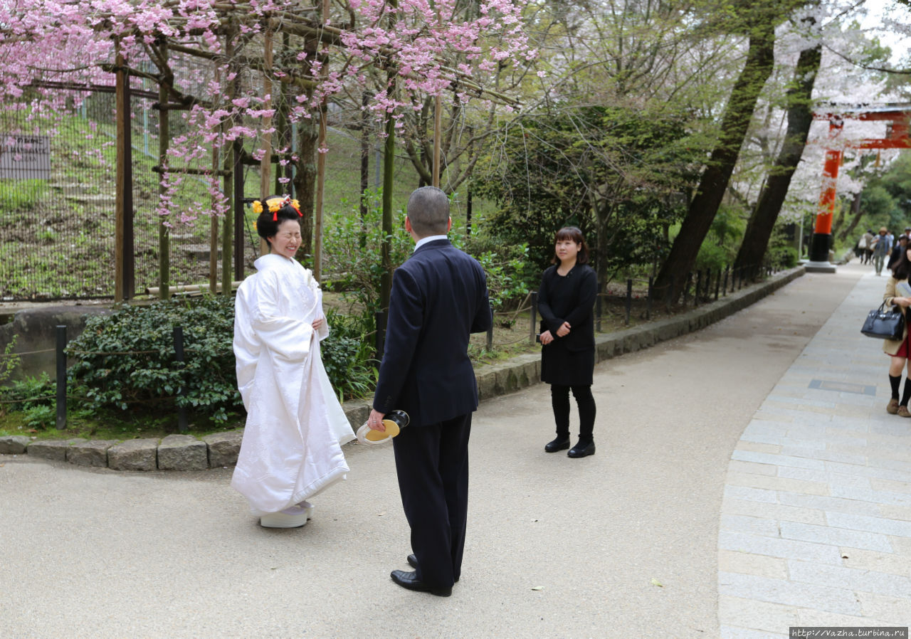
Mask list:
[[[734,260],[735,267],[759,264],[765,256],[775,219],[782,209],[784,198],[791,186],[791,177],[804,154],[806,137],[810,133],[810,125],[813,124],[813,110],[810,106],[822,54],[823,46],[820,44],[801,51],[797,60],[793,86],[788,89],[786,98],[787,133],[743,234],[741,248],[737,252],[737,259]]]

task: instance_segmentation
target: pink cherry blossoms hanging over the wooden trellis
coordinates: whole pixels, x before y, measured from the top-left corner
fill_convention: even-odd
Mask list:
[[[318,113],[333,96],[381,77],[380,86],[372,87],[374,101],[368,108],[377,118],[392,117],[398,123],[404,109],[420,103],[415,96],[454,91],[467,101],[497,67],[524,64],[537,56],[523,32],[526,3],[349,0],[349,11],[342,15],[346,21],[353,16],[353,26],[333,27],[338,46],[319,59],[301,51],[295,56],[296,67],[276,69],[271,79],[277,86],[293,73],[317,83],[315,89],[299,87],[289,114],[296,121]],[[256,57],[267,25],[281,28],[281,20],[287,19],[282,16],[300,15],[300,8],[296,0],[0,0],[0,108],[23,108],[26,89],[36,80],[111,86],[118,53],[127,66],[154,77],[162,64],[158,46],[167,42],[176,49],[167,60],[174,86],[195,98],[189,110],[178,112],[186,126],[171,139],[168,164],[175,169],[208,167],[213,147],[227,148],[237,139],[255,143],[274,131],[275,108],[271,96],[262,93],[261,71],[227,56],[226,34],[234,30],[230,46],[241,47],[241,56]],[[311,15],[318,18],[318,13]],[[198,57],[181,54],[180,46],[210,59],[200,63]],[[256,53],[247,56],[243,46]],[[141,76],[132,76],[130,82],[136,88],[148,84]],[[39,97],[27,105],[32,117],[72,110],[87,95],[47,86],[33,91]],[[262,147],[254,157],[265,152]],[[282,165],[288,161],[281,158]],[[188,223],[207,211],[224,212],[226,199],[217,179],[210,183],[214,205],[210,201],[181,211],[175,197],[182,178],[178,173],[162,177],[157,212],[163,221]],[[179,219],[172,212],[179,212]]]

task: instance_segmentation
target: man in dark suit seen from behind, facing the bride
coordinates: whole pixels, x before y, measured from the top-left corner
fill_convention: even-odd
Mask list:
[[[468,338],[487,330],[492,318],[484,269],[446,238],[452,219],[445,193],[435,187],[412,193],[404,228],[415,252],[395,270],[367,423],[383,431],[385,413],[398,409],[410,417],[393,446],[415,571],[393,571],[392,579],[449,596],[465,548],[468,435],[477,408]]]

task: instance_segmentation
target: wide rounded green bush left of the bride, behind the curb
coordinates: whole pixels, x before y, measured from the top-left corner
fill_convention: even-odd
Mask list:
[[[156,406],[172,399],[215,421],[241,405],[231,350],[234,307],[222,297],[122,306],[87,321],[67,346],[76,360],[71,383],[88,407]],[[184,365],[175,360],[173,329],[183,327]],[[152,403],[150,403],[152,402]]]

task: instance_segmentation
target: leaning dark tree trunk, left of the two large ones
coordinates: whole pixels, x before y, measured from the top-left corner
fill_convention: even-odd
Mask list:
[[[743,138],[750,127],[756,100],[765,81],[772,75],[774,44],[775,31],[771,22],[757,25],[752,30],[746,64],[731,91],[731,99],[724,108],[721,137],[711,152],[680,233],[674,239],[668,259],[661,266],[655,281],[655,291],[660,298],[674,302],[680,297],[687,273],[693,268],[702,240],[718,213]]]

